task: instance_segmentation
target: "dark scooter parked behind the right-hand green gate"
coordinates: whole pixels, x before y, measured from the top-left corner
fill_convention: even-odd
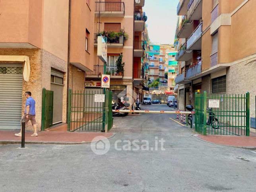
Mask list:
[[[192,105],[187,105],[186,106],[186,109],[188,111],[193,111],[194,107]],[[211,108],[207,108],[206,109],[206,112],[209,113],[209,118],[206,122],[207,125],[211,125],[213,129],[218,129],[219,128],[219,121],[218,119],[215,117],[215,114],[214,112],[212,111]],[[188,124],[191,124],[193,121],[193,115],[192,114],[189,114],[188,115]]]

